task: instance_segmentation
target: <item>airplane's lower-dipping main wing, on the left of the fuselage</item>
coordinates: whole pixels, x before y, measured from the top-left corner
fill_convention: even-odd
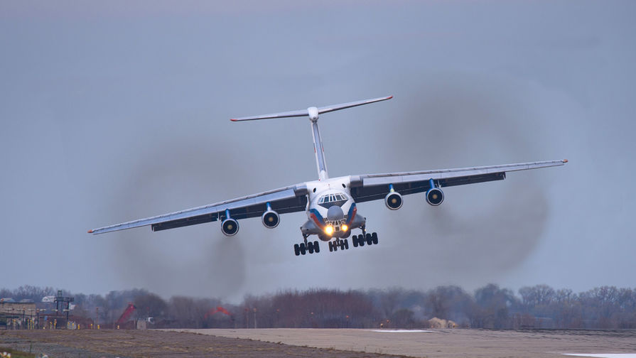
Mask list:
[[[237,197],[236,199],[224,202],[216,202],[215,204],[202,207],[193,207],[192,209],[158,215],[156,217],[99,227],[98,229],[92,229],[88,232],[90,234],[103,234],[104,232],[131,229],[133,227],[146,225],[152,225],[153,231],[173,229],[175,227],[203,224],[204,222],[225,219],[225,210],[230,210],[230,217],[232,217],[232,219],[258,217],[267,210],[268,202],[269,205],[271,205],[271,209],[279,214],[298,212],[306,208],[307,193],[307,185],[302,183],[286,188],[260,192],[259,194]]]

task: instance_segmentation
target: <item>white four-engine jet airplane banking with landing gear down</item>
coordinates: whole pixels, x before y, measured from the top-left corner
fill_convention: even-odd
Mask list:
[[[367,218],[358,212],[357,204],[360,202],[384,200],[384,205],[389,210],[398,210],[402,206],[402,195],[425,192],[426,202],[429,205],[438,206],[444,201],[442,188],[503,180],[508,172],[563,166],[568,163],[567,159],[564,159],[560,161],[538,161],[500,166],[347,175],[330,178],[327,172],[323,141],[320,138],[320,130],[318,129],[318,116],[340,109],[381,102],[392,98],[393,96],[379,97],[325,107],[309,107],[298,111],[230,119],[231,121],[255,121],[308,116],[313,136],[313,149],[316,155],[318,180],[146,219],[100,227],[88,232],[90,234],[103,234],[105,232],[147,225],[150,225],[154,232],[220,221],[221,232],[228,237],[232,237],[239,232],[239,219],[261,217],[261,221],[266,228],[274,229],[280,223],[281,214],[305,211],[307,221],[301,226],[303,242],[293,245],[293,251],[296,256],[320,252],[318,240],[308,241],[308,237],[311,237],[311,235],[316,235],[320,242],[328,242],[329,251],[347,250],[349,249],[347,238],[350,237],[354,229],[362,230],[362,234],[351,237],[354,247],[365,246],[365,244],[367,246],[378,244],[377,233],[367,232]]]

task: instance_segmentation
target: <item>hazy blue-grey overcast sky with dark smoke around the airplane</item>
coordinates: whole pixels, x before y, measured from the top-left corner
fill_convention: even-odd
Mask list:
[[[633,1],[2,1],[0,287],[634,287]],[[278,228],[87,229],[317,178],[568,158],[359,205],[379,245],[296,257]]]

